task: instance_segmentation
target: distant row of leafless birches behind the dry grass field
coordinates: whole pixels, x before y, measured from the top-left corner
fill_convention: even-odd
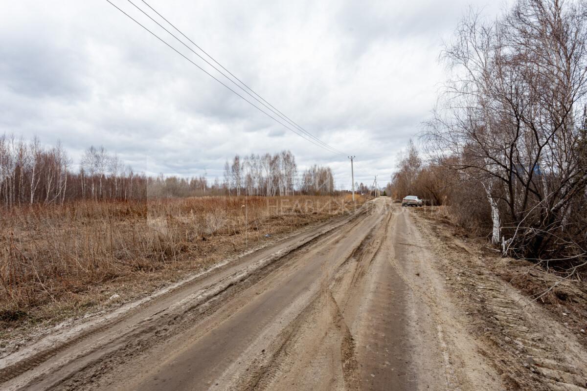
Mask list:
[[[205,175],[147,176],[124,165],[104,147],[83,153],[79,169],[58,143],[46,147],[31,141],[0,135],[0,205],[62,204],[71,200],[137,200],[156,197],[205,195],[332,194],[334,179],[328,167],[312,166],[298,176],[290,151],[277,154],[235,155],[227,162],[224,181],[210,183]]]

